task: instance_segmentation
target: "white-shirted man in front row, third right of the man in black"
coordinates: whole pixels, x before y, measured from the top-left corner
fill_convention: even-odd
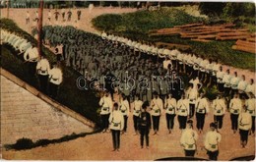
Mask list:
[[[186,99],[185,94],[181,94],[181,99],[177,102],[177,115],[179,130],[186,129],[187,117],[189,116],[189,101]]]

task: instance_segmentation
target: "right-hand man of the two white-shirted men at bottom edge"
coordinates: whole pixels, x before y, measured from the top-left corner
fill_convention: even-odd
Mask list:
[[[215,123],[210,124],[210,131],[206,134],[204,145],[210,160],[217,160],[222,135],[217,132]]]

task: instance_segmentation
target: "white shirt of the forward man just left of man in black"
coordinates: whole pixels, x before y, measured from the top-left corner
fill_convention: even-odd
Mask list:
[[[123,114],[119,110],[111,112],[108,122],[110,130],[122,131],[124,128]]]

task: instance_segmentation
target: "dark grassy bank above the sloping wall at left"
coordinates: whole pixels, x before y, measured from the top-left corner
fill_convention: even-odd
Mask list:
[[[1,28],[20,34],[31,41],[32,44],[36,44],[36,40],[29,33],[17,27],[13,21],[1,19],[0,23]],[[47,48],[43,47],[42,51],[50,63],[56,60],[55,55]],[[28,63],[24,63],[11,46],[7,44],[1,45],[1,57],[1,66],[3,68],[39,89],[38,79],[36,76],[30,75]],[[63,64],[62,71],[64,79],[59,87],[56,100],[99,125],[100,120],[96,114],[98,98],[96,98],[95,92],[92,90],[80,90],[77,87],[76,80],[81,75],[72,68],[65,67]]]

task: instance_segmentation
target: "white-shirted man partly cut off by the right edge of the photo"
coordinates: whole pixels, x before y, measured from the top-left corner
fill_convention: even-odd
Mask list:
[[[256,115],[256,98],[252,92],[249,94],[249,98],[245,100],[245,106],[249,114],[251,115],[252,127],[251,132],[255,133],[255,115]]]

